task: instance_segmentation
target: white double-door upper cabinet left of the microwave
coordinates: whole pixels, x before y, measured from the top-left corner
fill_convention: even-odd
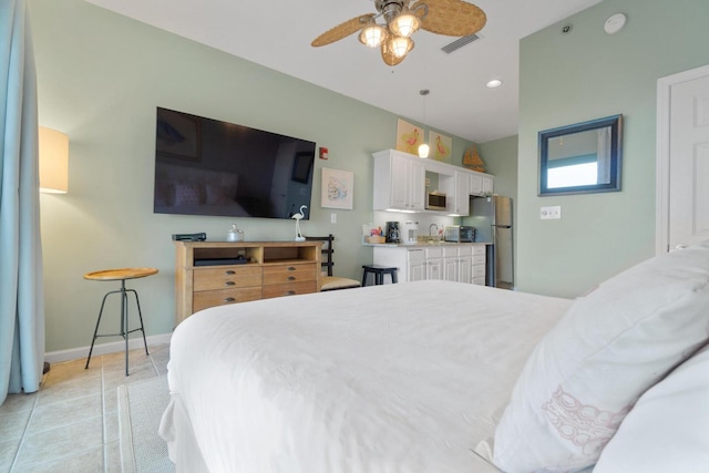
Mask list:
[[[407,153],[374,153],[374,210],[422,212],[425,203],[425,168]]]

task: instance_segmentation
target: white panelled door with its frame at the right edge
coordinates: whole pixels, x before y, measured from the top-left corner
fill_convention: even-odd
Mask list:
[[[709,239],[709,66],[658,81],[658,253]]]

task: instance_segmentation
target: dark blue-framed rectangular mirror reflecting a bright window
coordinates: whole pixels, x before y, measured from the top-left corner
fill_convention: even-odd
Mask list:
[[[540,132],[540,196],[620,191],[623,115]]]

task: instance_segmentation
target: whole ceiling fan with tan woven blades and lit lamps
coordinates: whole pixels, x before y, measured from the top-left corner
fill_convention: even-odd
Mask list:
[[[413,49],[411,35],[420,28],[436,34],[466,37],[487,21],[479,7],[462,0],[374,0],[379,13],[354,17],[316,38],[312,47],[323,47],[360,31],[359,41],[380,48],[381,59],[397,65]],[[383,17],[386,24],[376,20]]]

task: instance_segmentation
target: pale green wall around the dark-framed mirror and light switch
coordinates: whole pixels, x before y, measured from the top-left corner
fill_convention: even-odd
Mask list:
[[[628,22],[608,35],[618,12]],[[655,254],[657,80],[709,63],[707,19],[707,0],[605,0],[521,41],[520,290],[575,297]],[[538,197],[537,133],[618,113],[623,191]],[[541,220],[551,205],[562,219]]]

